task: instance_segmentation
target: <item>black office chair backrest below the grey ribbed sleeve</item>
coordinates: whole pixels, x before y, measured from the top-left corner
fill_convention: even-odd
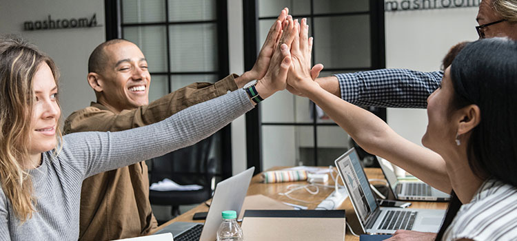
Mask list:
[[[150,183],[169,178],[180,185],[210,186],[212,176],[216,172],[216,162],[209,158],[212,141],[213,138],[210,136],[190,147],[153,158]]]

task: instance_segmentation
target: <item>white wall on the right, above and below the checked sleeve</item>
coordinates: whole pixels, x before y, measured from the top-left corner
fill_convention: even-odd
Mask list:
[[[474,41],[478,8],[385,13],[386,67],[424,72],[440,69],[449,48]],[[425,109],[387,109],[387,123],[398,134],[421,145],[427,127]]]

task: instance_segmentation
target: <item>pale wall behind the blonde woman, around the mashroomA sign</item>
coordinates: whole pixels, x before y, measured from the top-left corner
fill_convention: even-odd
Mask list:
[[[24,21],[72,19],[97,14],[96,28],[23,31]],[[61,71],[60,101],[63,117],[95,100],[88,83],[88,56],[105,41],[104,1],[102,0],[2,0],[0,34],[21,34],[50,55]]]

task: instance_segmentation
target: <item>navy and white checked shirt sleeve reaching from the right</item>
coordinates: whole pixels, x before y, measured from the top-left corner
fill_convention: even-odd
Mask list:
[[[334,76],[341,98],[354,105],[425,108],[427,96],[440,86],[443,71],[383,69]]]

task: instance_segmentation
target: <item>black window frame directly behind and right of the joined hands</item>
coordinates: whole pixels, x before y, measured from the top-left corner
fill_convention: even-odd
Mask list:
[[[276,19],[276,17],[259,17],[258,1],[260,0],[243,0],[243,23],[244,23],[244,61],[245,70],[251,70],[259,51],[258,28],[259,20]],[[336,16],[352,16],[369,14],[370,22],[370,49],[371,64],[368,68],[325,68],[325,71],[363,71],[378,70],[385,68],[385,17],[384,17],[384,1],[369,0],[369,11],[366,12],[343,12],[329,14],[314,14],[314,0],[310,0],[310,14],[293,15],[294,18],[307,17],[310,18],[310,25],[314,26],[314,17],[336,17]],[[314,36],[314,31],[312,32]],[[314,36],[316,39],[317,36]],[[312,65],[315,63],[316,55],[313,48]],[[312,123],[262,123],[261,106],[257,105],[252,111],[246,114],[246,150],[247,150],[247,167],[256,167],[255,173],[263,171],[262,162],[262,126],[312,126],[314,132],[314,162],[318,165],[318,127],[320,126],[338,126],[336,123],[318,123],[317,118],[312,116]],[[386,121],[386,109],[369,107],[369,110],[378,117]],[[313,105],[313,115],[316,114],[316,105]]]

